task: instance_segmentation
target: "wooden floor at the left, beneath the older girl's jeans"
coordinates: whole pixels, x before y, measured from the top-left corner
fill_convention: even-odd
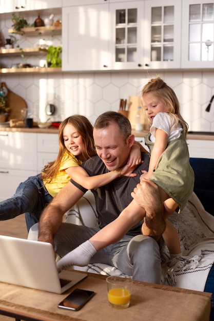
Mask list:
[[[0,234],[13,237],[27,238],[28,232],[25,224],[25,215],[0,221]],[[14,318],[0,315],[0,321],[13,321]]]

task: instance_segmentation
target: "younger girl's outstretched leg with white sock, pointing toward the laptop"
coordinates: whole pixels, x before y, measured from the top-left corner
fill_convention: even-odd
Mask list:
[[[145,216],[145,211],[135,200],[113,222],[109,223],[89,240],[66,254],[57,262],[59,272],[71,265],[86,266],[91,257],[106,246],[118,242],[128,230]]]

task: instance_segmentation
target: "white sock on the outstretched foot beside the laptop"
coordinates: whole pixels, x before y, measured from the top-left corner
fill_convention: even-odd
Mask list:
[[[89,240],[87,240],[76,249],[61,258],[56,263],[56,267],[60,272],[71,265],[86,266],[87,264],[89,264],[91,257],[96,252],[97,251],[94,246],[89,242]]]

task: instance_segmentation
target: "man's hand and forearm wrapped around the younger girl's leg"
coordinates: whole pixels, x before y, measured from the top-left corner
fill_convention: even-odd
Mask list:
[[[145,209],[146,216],[142,226],[144,235],[152,236],[158,240],[163,234],[166,224],[163,218],[163,204],[159,188],[151,180],[142,180],[134,188],[131,196],[139,206]]]

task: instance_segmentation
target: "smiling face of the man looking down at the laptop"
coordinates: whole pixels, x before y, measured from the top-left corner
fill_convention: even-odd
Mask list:
[[[133,135],[124,142],[118,125],[113,123],[106,128],[94,128],[93,137],[96,152],[109,171],[126,165],[133,144]]]

